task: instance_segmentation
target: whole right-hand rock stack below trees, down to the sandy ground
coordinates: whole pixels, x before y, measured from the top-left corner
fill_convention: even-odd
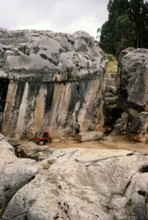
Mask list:
[[[124,131],[135,140],[147,141],[148,49],[128,48],[122,51],[116,83],[119,94],[118,106],[128,114]],[[122,129],[119,128],[120,130]]]

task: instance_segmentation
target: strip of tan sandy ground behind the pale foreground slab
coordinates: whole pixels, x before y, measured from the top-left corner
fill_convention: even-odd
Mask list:
[[[66,143],[51,143],[53,148],[96,148],[96,149],[120,149],[148,154],[148,144],[130,141],[126,136],[111,136],[104,141],[78,142],[68,139]]]

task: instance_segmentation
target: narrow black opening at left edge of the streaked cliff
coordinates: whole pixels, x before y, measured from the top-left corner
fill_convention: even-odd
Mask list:
[[[8,85],[9,85],[8,78],[0,78],[0,129],[1,129],[3,112],[6,104]]]

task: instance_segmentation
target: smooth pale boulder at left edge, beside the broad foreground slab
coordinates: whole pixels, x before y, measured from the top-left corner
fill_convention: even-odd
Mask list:
[[[13,147],[0,141],[0,217],[15,193],[37,174],[35,161],[18,159]]]

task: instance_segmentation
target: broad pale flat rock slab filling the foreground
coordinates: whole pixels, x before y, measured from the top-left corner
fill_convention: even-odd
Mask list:
[[[11,195],[2,220],[148,217],[148,155],[121,150],[59,149],[37,166],[35,178]],[[9,159],[7,170],[11,168]],[[6,179],[8,176],[9,172],[5,172]]]

